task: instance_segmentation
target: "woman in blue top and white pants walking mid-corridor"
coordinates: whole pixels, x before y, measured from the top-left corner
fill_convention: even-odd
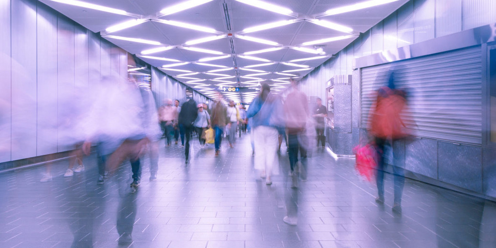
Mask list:
[[[283,127],[282,102],[277,96],[269,96],[270,86],[262,85],[260,94],[248,108],[251,131],[255,146],[255,169],[261,170],[261,178],[267,185],[272,184],[271,176],[279,174],[277,157],[278,128]]]

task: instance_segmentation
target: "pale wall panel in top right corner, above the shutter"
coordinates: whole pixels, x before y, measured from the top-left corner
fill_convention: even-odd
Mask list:
[[[462,4],[462,30],[496,22],[496,1],[463,0]]]

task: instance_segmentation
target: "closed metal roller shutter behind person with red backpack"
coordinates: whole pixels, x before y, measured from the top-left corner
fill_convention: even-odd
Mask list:
[[[369,126],[372,102],[392,66],[396,87],[409,95],[405,120],[414,135],[482,143],[480,46],[363,68],[362,127]]]

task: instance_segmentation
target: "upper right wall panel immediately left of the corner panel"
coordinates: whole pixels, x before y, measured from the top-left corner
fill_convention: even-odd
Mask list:
[[[462,31],[462,0],[435,0],[435,37]]]

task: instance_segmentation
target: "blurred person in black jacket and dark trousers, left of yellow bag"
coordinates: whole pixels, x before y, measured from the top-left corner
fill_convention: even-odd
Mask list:
[[[191,133],[194,130],[194,121],[198,116],[198,110],[196,108],[196,102],[189,98],[186,103],[181,106],[181,112],[179,113],[179,124],[182,124],[185,129],[185,164],[189,162],[189,139],[191,139]]]

